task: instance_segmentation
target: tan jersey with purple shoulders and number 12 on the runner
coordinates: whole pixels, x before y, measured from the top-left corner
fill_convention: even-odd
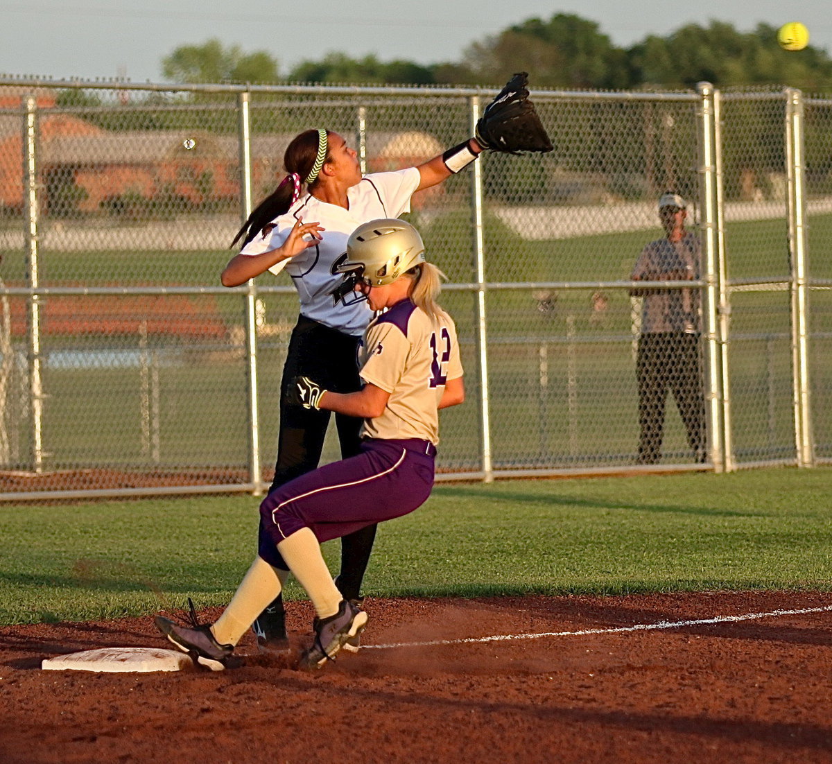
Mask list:
[[[390,394],[384,413],[364,419],[367,438],[439,442],[438,405],[447,380],[463,375],[457,330],[402,300],[375,319],[359,350],[361,379]]]

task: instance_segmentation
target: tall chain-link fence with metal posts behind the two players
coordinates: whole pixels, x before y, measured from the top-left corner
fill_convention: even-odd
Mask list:
[[[491,95],[0,82],[2,498],[267,485],[298,303],[219,285],[245,211],[302,130],[398,169]],[[829,459],[832,102],[532,95],[555,151],[483,156],[409,215],[466,368],[439,478]]]

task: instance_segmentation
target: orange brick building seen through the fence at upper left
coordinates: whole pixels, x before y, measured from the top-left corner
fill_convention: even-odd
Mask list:
[[[26,94],[0,92],[0,208],[23,205],[23,111]],[[41,207],[47,215],[92,215],[116,205],[157,201],[160,207],[201,206],[206,201],[239,205],[239,146],[236,135],[205,130],[105,130],[59,110],[55,92],[35,94],[38,114],[37,167]],[[113,111],[119,107],[113,107]],[[129,109],[122,112],[125,121]],[[282,175],[283,154],[293,136],[251,139],[253,194],[269,193]],[[368,139],[369,171],[418,164],[442,151],[422,132],[374,133]],[[420,200],[424,201],[424,200]],[[129,213],[122,208],[119,212]]]

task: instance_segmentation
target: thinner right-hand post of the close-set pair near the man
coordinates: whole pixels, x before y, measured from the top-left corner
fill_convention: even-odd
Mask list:
[[[726,472],[735,472],[734,438],[730,411],[729,335],[730,335],[730,292],[726,266],[725,241],[725,196],[722,175],[722,94],[714,91],[714,166],[716,168],[716,270],[719,285],[719,347],[721,370],[721,414],[723,467]]]

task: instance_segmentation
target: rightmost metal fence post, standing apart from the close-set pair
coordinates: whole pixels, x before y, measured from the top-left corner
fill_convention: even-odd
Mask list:
[[[792,396],[797,466],[815,465],[809,388],[808,289],[806,286],[805,146],[803,93],[785,89],[786,174],[789,179]]]

